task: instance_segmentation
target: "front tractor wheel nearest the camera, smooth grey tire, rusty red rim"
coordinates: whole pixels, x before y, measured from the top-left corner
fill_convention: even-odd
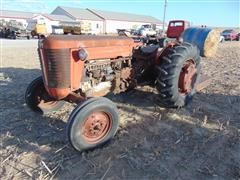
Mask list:
[[[78,105],[71,113],[67,135],[77,151],[96,148],[117,132],[119,116],[116,105],[107,98],[92,98]]]

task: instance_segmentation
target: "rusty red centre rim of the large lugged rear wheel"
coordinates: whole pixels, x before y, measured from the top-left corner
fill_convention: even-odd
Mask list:
[[[178,89],[181,94],[190,93],[197,79],[197,68],[196,64],[192,59],[186,61],[184,64],[178,82]]]

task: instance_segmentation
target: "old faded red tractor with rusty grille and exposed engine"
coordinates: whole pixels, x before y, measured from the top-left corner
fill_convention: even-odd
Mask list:
[[[149,84],[157,88],[160,106],[182,107],[200,75],[199,49],[185,42],[161,48],[125,36],[50,35],[39,40],[38,52],[42,76],[28,86],[26,103],[39,113],[76,103],[67,131],[78,151],[102,145],[117,132],[117,107],[102,96]]]

